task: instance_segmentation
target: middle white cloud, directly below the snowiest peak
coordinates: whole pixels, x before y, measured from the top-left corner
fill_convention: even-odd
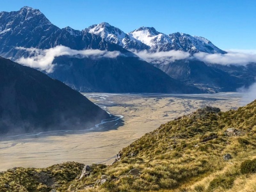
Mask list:
[[[148,51],[132,51],[141,59],[148,63],[168,64],[176,60],[184,60],[189,58],[189,53],[184,51],[163,51],[163,52],[148,52]]]

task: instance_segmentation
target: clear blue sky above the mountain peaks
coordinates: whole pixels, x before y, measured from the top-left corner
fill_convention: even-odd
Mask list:
[[[38,8],[59,28],[109,22],[126,33],[141,26],[204,36],[220,49],[256,49],[253,0],[1,0],[0,12]]]

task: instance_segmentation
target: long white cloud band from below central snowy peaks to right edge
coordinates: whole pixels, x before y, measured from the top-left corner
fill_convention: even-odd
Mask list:
[[[206,52],[197,52],[191,56],[184,51],[166,51],[166,52],[147,52],[132,51],[141,59],[153,64],[168,64],[176,60],[197,59],[205,63],[220,65],[247,65],[256,63],[256,50],[236,50],[230,49],[227,54],[209,54]]]

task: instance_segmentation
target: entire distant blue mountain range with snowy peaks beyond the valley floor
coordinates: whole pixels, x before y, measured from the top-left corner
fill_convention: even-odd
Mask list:
[[[199,62],[202,52],[227,53],[206,38],[146,27],[124,33],[106,22],[83,31],[60,29],[29,7],[0,13],[0,44],[1,56],[44,70],[81,92],[225,92],[254,82],[246,66],[224,70]]]

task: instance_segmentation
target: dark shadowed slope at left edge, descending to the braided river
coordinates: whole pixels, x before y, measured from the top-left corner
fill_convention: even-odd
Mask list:
[[[106,111],[42,72],[0,58],[0,134],[86,129]]]

